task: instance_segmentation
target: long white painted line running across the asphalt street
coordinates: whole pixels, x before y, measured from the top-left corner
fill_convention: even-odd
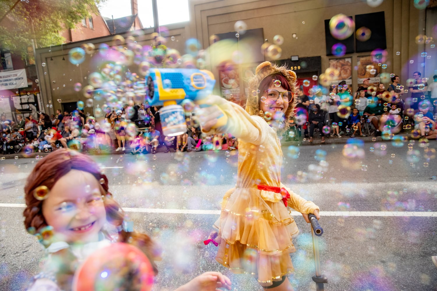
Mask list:
[[[0,207],[26,207],[25,204],[0,203]],[[219,215],[220,210],[201,210],[201,209],[163,209],[163,208],[129,208],[123,207],[125,212],[142,213],[172,213],[172,214],[213,214]],[[292,216],[300,215],[297,211],[291,212]],[[424,211],[321,211],[320,216],[414,216],[414,217],[437,217],[437,212]]]

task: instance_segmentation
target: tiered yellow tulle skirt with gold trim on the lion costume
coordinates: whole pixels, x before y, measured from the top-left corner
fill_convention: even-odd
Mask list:
[[[282,200],[264,201],[256,188],[226,192],[215,222],[220,242],[216,260],[233,273],[251,274],[268,286],[292,273],[292,236],[298,229]]]

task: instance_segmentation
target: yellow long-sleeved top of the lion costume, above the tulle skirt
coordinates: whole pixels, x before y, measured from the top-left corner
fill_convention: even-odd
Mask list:
[[[207,134],[231,133],[239,139],[236,188],[257,188],[257,185],[286,188],[290,193],[288,206],[305,214],[319,210],[313,202],[306,201],[281,183],[283,154],[276,130],[262,117],[250,116],[235,103],[225,101],[218,106],[225,113],[227,122],[222,127],[211,129]],[[225,199],[232,192],[233,189],[226,192]],[[282,200],[280,193],[264,190],[261,191],[261,197],[270,202]]]

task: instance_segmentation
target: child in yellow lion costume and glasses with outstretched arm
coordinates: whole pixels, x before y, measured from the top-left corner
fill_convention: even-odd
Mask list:
[[[286,275],[294,270],[289,253],[296,250],[292,237],[298,228],[287,206],[307,223],[310,213],[319,219],[317,205],[281,183],[279,137],[295,113],[295,86],[295,72],[263,62],[249,81],[246,111],[219,96],[196,100],[203,132],[231,133],[239,140],[236,187],[225,193],[214,225],[218,233],[205,244],[219,244],[219,263],[233,273],[253,275],[269,290],[293,290]]]

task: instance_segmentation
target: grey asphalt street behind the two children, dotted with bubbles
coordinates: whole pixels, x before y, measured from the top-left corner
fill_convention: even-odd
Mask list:
[[[436,291],[437,142],[391,141],[287,144],[282,181],[321,209],[326,291]],[[232,274],[203,240],[236,181],[237,151],[98,155],[110,191],[135,229],[163,247],[153,290],[174,290],[208,270],[232,280],[232,290],[262,290],[249,275]],[[0,160],[0,290],[22,290],[38,272],[42,246],[23,226],[23,187],[38,160]],[[263,165],[259,165],[260,169]],[[310,226],[291,254],[296,291],[316,290]]]

